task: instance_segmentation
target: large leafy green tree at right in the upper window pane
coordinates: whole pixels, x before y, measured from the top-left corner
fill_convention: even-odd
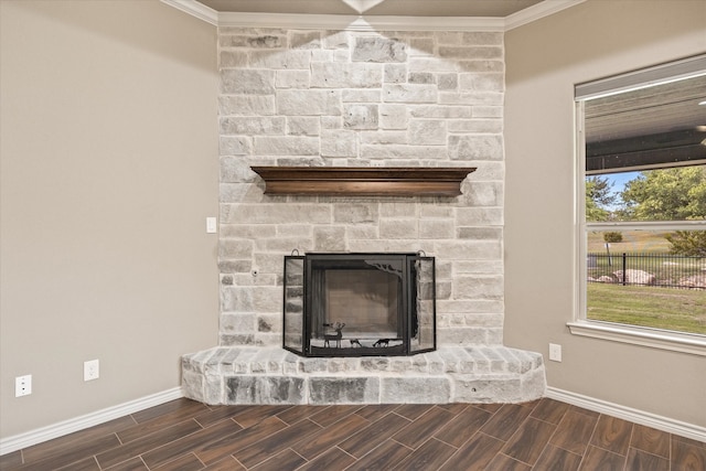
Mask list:
[[[633,221],[706,218],[706,167],[651,170],[629,181],[621,193]]]

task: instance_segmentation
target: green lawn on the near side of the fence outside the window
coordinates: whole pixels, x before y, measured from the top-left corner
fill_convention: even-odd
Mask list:
[[[587,317],[706,334],[706,290],[588,283]]]

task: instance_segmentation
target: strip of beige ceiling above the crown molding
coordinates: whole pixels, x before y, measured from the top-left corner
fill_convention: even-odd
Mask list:
[[[505,18],[543,0],[200,0],[217,12]]]

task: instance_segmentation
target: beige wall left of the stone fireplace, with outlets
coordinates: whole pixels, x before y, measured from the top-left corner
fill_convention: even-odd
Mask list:
[[[178,387],[216,343],[218,160],[214,26],[157,0],[0,21],[4,438]]]

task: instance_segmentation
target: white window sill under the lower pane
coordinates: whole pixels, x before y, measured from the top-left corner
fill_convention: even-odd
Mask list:
[[[609,324],[595,321],[568,322],[567,325],[574,335],[706,356],[706,338],[703,335],[641,329],[631,325]]]

